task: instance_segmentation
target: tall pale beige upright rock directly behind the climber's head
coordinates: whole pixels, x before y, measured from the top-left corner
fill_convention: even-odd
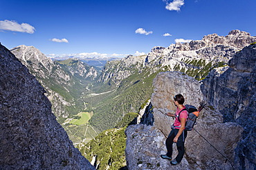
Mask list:
[[[203,94],[198,81],[185,74],[182,75],[181,72],[161,72],[154,79],[153,85],[154,126],[168,135],[172,118],[165,114],[176,111],[173,97],[176,94],[183,94],[186,103],[199,107],[199,101],[203,100]],[[169,121],[163,121],[165,119]]]

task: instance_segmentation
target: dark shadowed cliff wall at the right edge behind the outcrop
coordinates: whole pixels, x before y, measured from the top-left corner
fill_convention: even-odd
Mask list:
[[[203,81],[202,91],[221,114],[224,122],[244,127],[236,149],[237,167],[255,169],[256,128],[256,45],[244,47],[229,61],[226,72],[214,70]]]

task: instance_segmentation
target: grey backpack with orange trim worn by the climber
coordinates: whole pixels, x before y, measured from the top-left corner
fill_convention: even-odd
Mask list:
[[[185,105],[185,109],[182,109],[181,111],[188,111],[188,119],[185,124],[185,130],[191,131],[196,125],[196,118],[199,116],[199,111],[194,107],[193,105]],[[179,112],[179,116],[181,114],[181,111]],[[180,118],[178,116],[179,122],[181,122]]]

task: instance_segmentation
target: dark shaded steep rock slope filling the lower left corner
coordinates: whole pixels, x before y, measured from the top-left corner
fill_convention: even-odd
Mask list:
[[[94,169],[28,69],[0,45],[0,169]]]

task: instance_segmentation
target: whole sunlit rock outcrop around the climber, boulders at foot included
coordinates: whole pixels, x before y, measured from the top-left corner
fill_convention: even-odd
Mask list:
[[[196,131],[189,131],[185,142],[185,157],[181,164],[171,166],[167,160],[159,156],[166,153],[165,140],[174,123],[171,117],[165,116],[169,111],[175,111],[173,96],[183,94],[185,104],[199,106],[203,100],[200,83],[181,72],[162,72],[154,79],[154,126],[134,125],[127,127],[127,167],[128,169],[232,169],[234,150],[241,138],[243,128],[237,123],[223,123],[222,115],[212,107],[207,107],[197,120],[196,131],[204,136],[214,147],[221,151],[230,162],[215,151]],[[146,132],[145,132],[146,131]],[[228,134],[226,133],[228,131]],[[154,134],[155,135],[152,135]],[[158,134],[156,134],[158,133]],[[163,133],[163,134],[161,134]],[[141,142],[137,143],[138,140]],[[146,145],[144,145],[146,143]],[[150,143],[150,145],[147,145]],[[174,145],[174,148],[176,146]],[[177,151],[174,151],[174,158]],[[129,154],[133,155],[132,157]],[[134,156],[134,154],[136,156]],[[138,162],[138,160],[141,160]],[[135,165],[141,164],[140,167]]]

